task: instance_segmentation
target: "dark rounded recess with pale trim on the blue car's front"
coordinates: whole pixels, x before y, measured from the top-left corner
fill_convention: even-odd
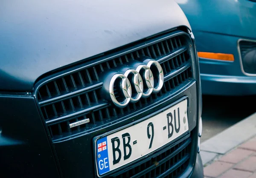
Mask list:
[[[256,41],[240,40],[241,64],[247,74],[256,74]]]

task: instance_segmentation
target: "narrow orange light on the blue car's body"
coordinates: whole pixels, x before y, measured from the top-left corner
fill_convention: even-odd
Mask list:
[[[227,60],[234,61],[234,55],[224,53],[213,53],[213,52],[198,52],[198,57],[216,59],[216,60]]]

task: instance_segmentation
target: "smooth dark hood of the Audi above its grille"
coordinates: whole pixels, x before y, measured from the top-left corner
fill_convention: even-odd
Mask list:
[[[187,26],[174,0],[3,0],[0,90],[32,91],[54,69]]]

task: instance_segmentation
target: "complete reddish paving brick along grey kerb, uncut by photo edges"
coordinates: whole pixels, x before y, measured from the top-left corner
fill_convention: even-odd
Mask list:
[[[235,149],[229,152],[227,155],[222,156],[219,161],[236,164],[253,153],[255,152],[246,149]]]

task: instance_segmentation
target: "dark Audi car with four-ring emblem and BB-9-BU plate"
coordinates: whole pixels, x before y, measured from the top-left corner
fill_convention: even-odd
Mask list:
[[[195,39],[174,0],[0,6],[1,178],[203,178]]]

